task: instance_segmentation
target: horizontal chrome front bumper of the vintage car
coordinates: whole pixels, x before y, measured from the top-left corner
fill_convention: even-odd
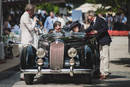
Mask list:
[[[37,74],[38,69],[22,69],[24,74]],[[92,69],[73,69],[74,74],[89,74],[92,72]],[[69,74],[70,69],[60,69],[60,70],[52,70],[52,69],[42,69],[41,74]]]

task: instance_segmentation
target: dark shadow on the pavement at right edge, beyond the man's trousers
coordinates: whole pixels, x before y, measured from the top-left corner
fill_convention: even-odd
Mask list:
[[[110,62],[117,65],[124,65],[125,67],[130,67],[130,58],[119,58],[119,60],[113,60]]]

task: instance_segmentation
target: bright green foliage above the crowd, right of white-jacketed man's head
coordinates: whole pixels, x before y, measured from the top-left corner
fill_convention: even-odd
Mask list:
[[[59,12],[59,7],[51,3],[41,3],[36,6],[36,9],[46,10],[47,12],[54,11],[54,13]]]

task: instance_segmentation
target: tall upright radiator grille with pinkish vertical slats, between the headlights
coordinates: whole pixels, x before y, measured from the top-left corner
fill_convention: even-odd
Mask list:
[[[61,69],[63,68],[64,61],[64,43],[53,42],[50,44],[50,68]]]

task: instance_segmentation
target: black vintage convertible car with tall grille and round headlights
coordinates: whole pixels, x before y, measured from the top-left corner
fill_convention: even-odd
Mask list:
[[[32,84],[34,76],[46,74],[84,75],[86,83],[91,83],[97,70],[97,42],[94,35],[70,33],[64,35],[40,35],[38,49],[25,46],[21,54],[21,71],[25,83]]]

